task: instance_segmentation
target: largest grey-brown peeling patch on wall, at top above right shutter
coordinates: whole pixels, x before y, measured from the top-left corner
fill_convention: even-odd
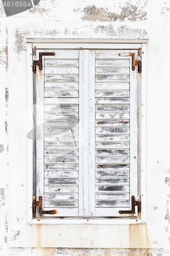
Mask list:
[[[147,12],[144,11],[144,7],[147,6],[147,1],[144,1],[142,6],[139,6],[139,3],[132,5],[128,2],[125,3],[123,7],[119,6],[120,13],[110,12],[108,8],[96,7],[95,5],[86,6],[83,9],[82,20],[90,21],[100,21],[100,22],[110,22],[110,21],[124,21],[130,20],[134,22],[136,20],[146,20]],[[80,8],[74,9],[75,12],[78,12]]]

